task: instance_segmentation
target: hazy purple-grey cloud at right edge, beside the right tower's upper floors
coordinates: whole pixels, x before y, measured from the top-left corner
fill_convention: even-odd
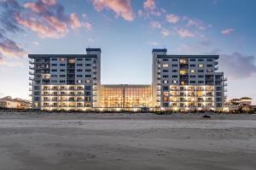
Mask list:
[[[240,53],[220,54],[219,67],[229,79],[243,79],[256,74],[255,57]]]

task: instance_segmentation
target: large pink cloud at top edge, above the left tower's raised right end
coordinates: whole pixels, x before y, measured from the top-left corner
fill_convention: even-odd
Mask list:
[[[115,14],[122,16],[124,20],[134,20],[130,0],[92,0],[92,4],[97,11],[110,8]]]

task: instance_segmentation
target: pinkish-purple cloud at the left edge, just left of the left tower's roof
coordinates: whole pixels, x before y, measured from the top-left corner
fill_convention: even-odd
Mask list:
[[[10,40],[8,37],[5,37],[0,32],[0,54],[3,54],[7,57],[24,57],[26,56],[26,52],[23,48],[20,48],[20,46]]]

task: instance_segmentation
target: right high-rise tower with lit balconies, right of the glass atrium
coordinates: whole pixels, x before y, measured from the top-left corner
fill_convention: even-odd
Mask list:
[[[169,55],[152,51],[152,105],[163,110],[222,110],[226,78],[218,55]]]

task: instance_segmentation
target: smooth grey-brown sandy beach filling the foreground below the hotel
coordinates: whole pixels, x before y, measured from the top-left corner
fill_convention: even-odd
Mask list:
[[[256,115],[1,114],[0,170],[256,169]]]

